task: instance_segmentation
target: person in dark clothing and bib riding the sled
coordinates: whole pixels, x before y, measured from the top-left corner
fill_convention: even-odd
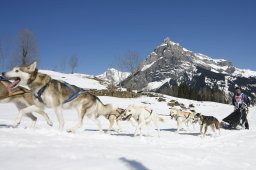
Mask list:
[[[245,129],[249,129],[249,123],[247,120],[248,107],[250,106],[250,99],[247,95],[241,92],[241,87],[235,87],[235,94],[232,98],[232,104],[235,106],[235,110],[229,116],[222,121],[228,123],[228,128],[236,129],[238,125],[244,126]]]

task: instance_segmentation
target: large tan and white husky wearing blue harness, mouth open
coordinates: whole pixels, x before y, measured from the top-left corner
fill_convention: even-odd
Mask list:
[[[98,97],[79,87],[51,79],[50,76],[39,73],[36,62],[29,66],[14,67],[11,71],[3,73],[3,76],[16,78],[16,86],[28,86],[33,94],[34,104],[20,111],[15,125],[20,123],[24,114],[38,112],[45,107],[49,107],[54,109],[59,121],[59,129],[62,131],[64,128],[62,108],[75,108],[78,112],[79,120],[68,132],[75,132],[81,127],[85,115],[94,117],[98,122],[99,129],[102,131],[101,124],[97,118],[100,114],[105,115],[112,111],[112,105],[104,105]]]

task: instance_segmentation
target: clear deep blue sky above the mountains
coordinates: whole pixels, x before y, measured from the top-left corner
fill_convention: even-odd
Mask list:
[[[189,50],[256,70],[254,0],[1,0],[0,40],[29,28],[41,69],[75,54],[76,72],[100,74],[129,50],[141,58],[170,37]],[[66,68],[66,71],[70,71]]]

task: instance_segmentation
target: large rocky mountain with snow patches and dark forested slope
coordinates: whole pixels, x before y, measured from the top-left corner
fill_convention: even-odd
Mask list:
[[[121,84],[177,97],[213,101],[218,98],[219,102],[224,102],[224,98],[227,102],[235,85],[254,98],[256,72],[236,68],[225,59],[194,53],[166,38]]]

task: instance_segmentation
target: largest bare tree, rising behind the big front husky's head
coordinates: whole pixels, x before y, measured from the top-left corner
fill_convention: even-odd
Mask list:
[[[33,61],[39,62],[39,50],[34,33],[29,29],[20,31],[18,52],[14,59],[21,65],[28,65]]]

